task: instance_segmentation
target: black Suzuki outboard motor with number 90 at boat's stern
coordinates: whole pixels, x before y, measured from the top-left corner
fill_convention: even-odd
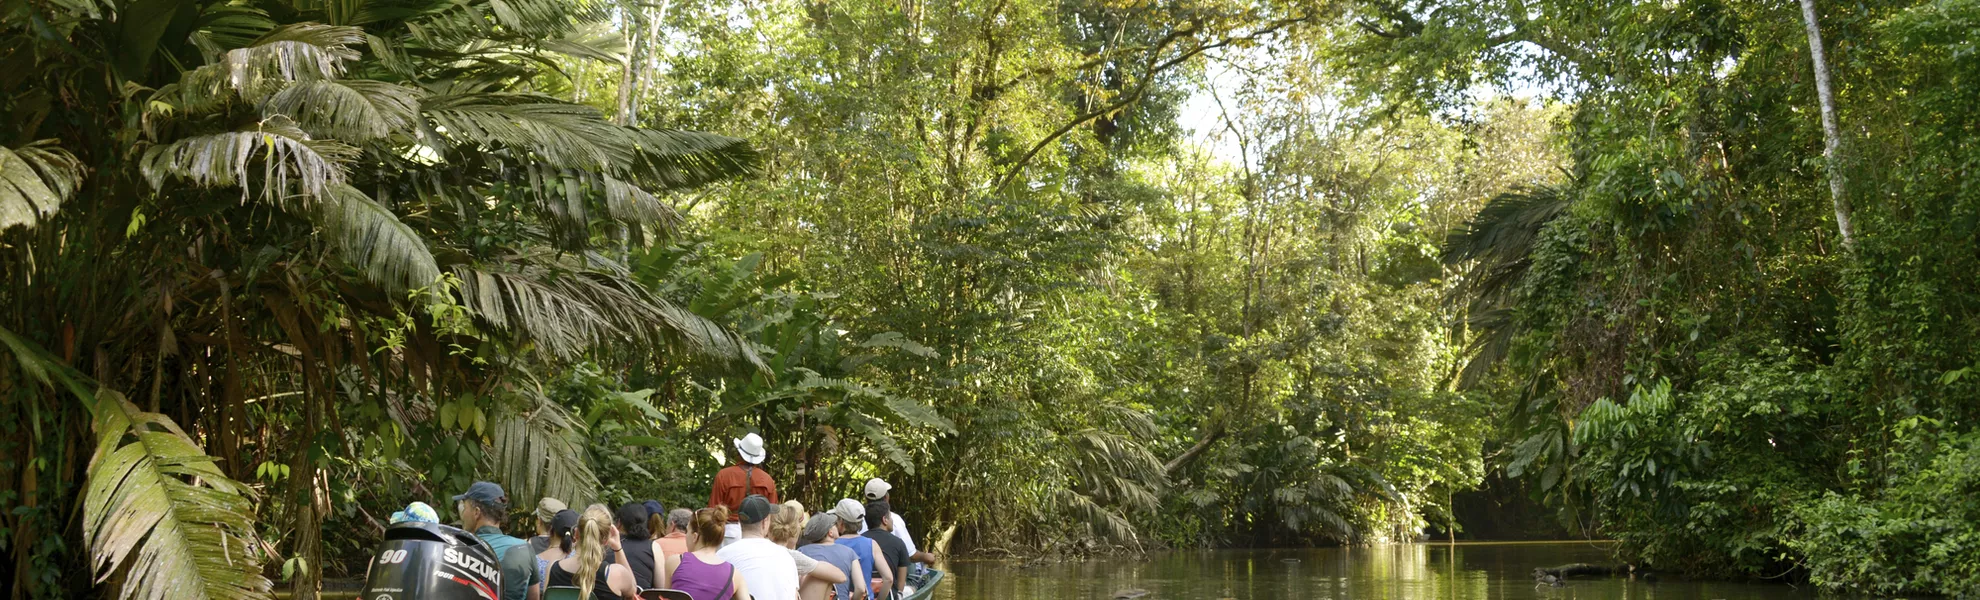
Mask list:
[[[499,600],[501,562],[473,533],[436,523],[398,523],[372,554],[358,600]]]

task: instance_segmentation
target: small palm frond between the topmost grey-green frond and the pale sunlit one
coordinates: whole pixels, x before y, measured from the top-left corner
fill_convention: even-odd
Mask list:
[[[261,103],[263,117],[285,115],[303,131],[348,143],[406,131],[418,113],[416,89],[370,79],[297,81]]]

